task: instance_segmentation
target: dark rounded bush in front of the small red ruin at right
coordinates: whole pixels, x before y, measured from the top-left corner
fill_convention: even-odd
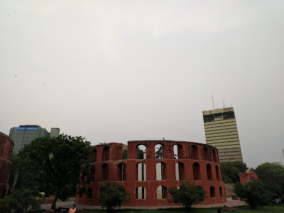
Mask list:
[[[249,204],[251,209],[268,205],[271,201],[271,195],[263,186],[263,183],[258,180],[252,180],[246,184],[237,182],[234,187],[234,192],[241,201]]]

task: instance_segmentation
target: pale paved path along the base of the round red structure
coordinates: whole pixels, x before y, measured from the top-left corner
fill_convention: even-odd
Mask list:
[[[74,204],[74,202],[57,202],[56,208],[58,208],[58,207],[70,208],[70,207],[72,207],[72,204]],[[240,201],[240,200],[231,200],[230,197],[227,197],[225,203],[207,204],[207,205],[202,204],[202,205],[195,205],[194,207],[195,208],[223,207],[224,204],[236,207],[236,206],[242,206],[246,203],[243,202],[243,201]],[[51,204],[42,204],[41,205],[41,209],[50,209],[50,207],[51,207]],[[159,209],[159,208],[175,208],[175,207],[177,207],[177,206],[164,205],[164,206],[158,206],[158,207],[121,207],[121,209]],[[98,207],[98,206],[80,205],[80,204],[76,204],[76,208],[77,209],[101,209],[101,207]]]

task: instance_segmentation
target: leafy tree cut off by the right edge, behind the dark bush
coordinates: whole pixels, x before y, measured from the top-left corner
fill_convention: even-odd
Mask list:
[[[284,200],[284,166],[281,163],[262,163],[256,168],[256,175],[274,199]]]

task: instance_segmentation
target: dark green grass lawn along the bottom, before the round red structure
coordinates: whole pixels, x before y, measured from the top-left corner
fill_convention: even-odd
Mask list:
[[[223,208],[222,212],[223,211]],[[116,210],[116,212],[123,212],[123,213],[130,213],[130,212],[150,212],[150,213],[173,213],[173,212],[185,212],[183,209],[177,209],[177,208],[168,208],[168,209],[120,209]],[[107,212],[106,210],[87,210],[86,213],[95,213],[95,212]],[[217,208],[210,208],[210,209],[197,209],[193,208],[191,213],[216,213]],[[275,213],[284,213],[284,205],[283,204],[273,204],[266,207],[258,208],[258,209],[249,209],[247,206],[241,206],[241,207],[234,207],[234,212],[239,213],[264,213],[264,212],[275,212]]]

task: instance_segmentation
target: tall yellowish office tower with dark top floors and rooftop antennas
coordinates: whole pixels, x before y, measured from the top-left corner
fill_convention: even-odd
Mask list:
[[[206,143],[218,149],[220,163],[243,161],[234,108],[203,111]]]

